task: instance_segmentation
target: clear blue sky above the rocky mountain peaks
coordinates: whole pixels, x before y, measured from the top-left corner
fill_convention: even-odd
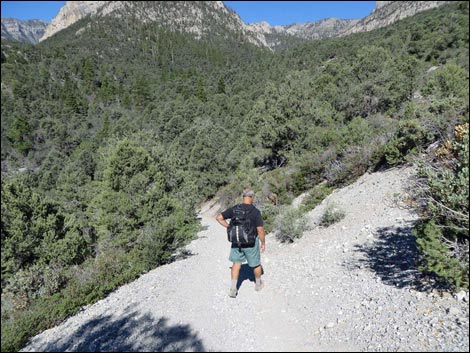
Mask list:
[[[288,25],[327,17],[362,18],[369,15],[375,1],[224,1],[246,23],[267,21]],[[50,22],[65,1],[2,1],[2,18],[40,19]]]

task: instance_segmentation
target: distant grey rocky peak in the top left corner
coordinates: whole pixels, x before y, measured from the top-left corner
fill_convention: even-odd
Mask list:
[[[44,35],[47,25],[47,22],[41,20],[2,18],[2,39],[36,44]]]

